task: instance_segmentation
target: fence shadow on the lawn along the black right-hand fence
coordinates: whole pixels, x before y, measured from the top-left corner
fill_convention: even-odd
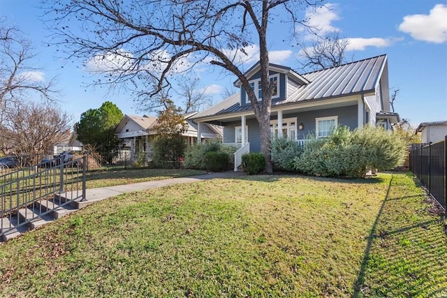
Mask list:
[[[393,179],[369,232],[353,297],[446,297],[443,218],[414,209],[411,202],[423,195],[390,198]]]

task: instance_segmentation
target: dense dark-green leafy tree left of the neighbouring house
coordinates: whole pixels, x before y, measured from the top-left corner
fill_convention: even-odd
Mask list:
[[[78,140],[102,152],[117,149],[119,140],[115,128],[122,118],[119,107],[110,101],[98,109],[89,109],[81,114],[80,121],[75,124]]]

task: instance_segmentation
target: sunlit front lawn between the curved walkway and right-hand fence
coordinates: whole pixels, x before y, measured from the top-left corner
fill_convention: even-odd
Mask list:
[[[0,245],[4,297],[445,297],[446,221],[411,175],[214,179]]]

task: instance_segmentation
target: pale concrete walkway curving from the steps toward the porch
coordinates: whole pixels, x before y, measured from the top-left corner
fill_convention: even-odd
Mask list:
[[[146,181],[140,182],[136,184],[124,184],[117,186],[107,186],[101,188],[90,188],[86,190],[85,197],[86,200],[83,202],[78,202],[78,207],[84,207],[87,204],[91,204],[92,202],[104,200],[106,198],[115,197],[116,195],[121,195],[123,193],[131,193],[133,191],[144,191],[145,189],[157,188],[162,186],[170,186],[173,184],[187,184],[193,183],[197,181],[210,180],[215,178],[236,178],[244,176],[244,172],[220,172],[220,173],[209,173],[202,174],[191,177],[181,177],[181,178],[171,178],[164,180],[154,180],[154,181]]]

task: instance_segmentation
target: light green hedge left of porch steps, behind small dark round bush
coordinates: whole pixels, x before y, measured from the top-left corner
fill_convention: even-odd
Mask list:
[[[195,144],[186,148],[184,154],[184,167],[188,169],[207,170],[207,152],[224,152],[227,154],[228,167],[234,164],[233,154],[236,147],[221,144],[219,140],[210,140],[203,144]]]

